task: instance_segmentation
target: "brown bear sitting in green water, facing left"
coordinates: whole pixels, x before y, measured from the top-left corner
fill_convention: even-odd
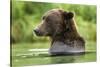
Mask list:
[[[52,9],[42,17],[42,22],[34,29],[37,36],[51,38],[51,55],[77,54],[85,52],[85,41],[76,29],[74,13]]]

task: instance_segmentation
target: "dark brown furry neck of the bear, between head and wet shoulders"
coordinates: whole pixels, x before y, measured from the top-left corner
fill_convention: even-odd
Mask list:
[[[66,40],[73,41],[80,37],[75,26],[75,21],[69,20],[67,22],[69,22],[68,26],[70,27],[68,31],[66,30],[61,35],[55,35],[51,37],[52,43],[55,41],[59,41],[59,42],[65,42]]]

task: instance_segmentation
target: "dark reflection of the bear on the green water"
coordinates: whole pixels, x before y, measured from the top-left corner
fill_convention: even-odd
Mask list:
[[[58,63],[74,63],[80,56],[85,56],[85,53],[82,54],[68,54],[63,56],[54,56],[55,58],[51,57],[51,64],[58,64]]]

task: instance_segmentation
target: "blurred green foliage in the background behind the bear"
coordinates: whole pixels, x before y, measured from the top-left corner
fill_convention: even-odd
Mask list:
[[[79,33],[86,40],[96,40],[96,6],[63,3],[11,1],[11,43],[47,41],[38,38],[33,29],[40,23],[41,16],[50,9],[58,8],[75,12]]]

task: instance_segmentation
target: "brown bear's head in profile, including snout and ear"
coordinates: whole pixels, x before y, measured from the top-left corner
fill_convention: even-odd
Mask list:
[[[70,23],[74,17],[73,12],[66,12],[60,9],[52,9],[46,12],[41,24],[34,30],[38,36],[59,36],[70,31]]]

